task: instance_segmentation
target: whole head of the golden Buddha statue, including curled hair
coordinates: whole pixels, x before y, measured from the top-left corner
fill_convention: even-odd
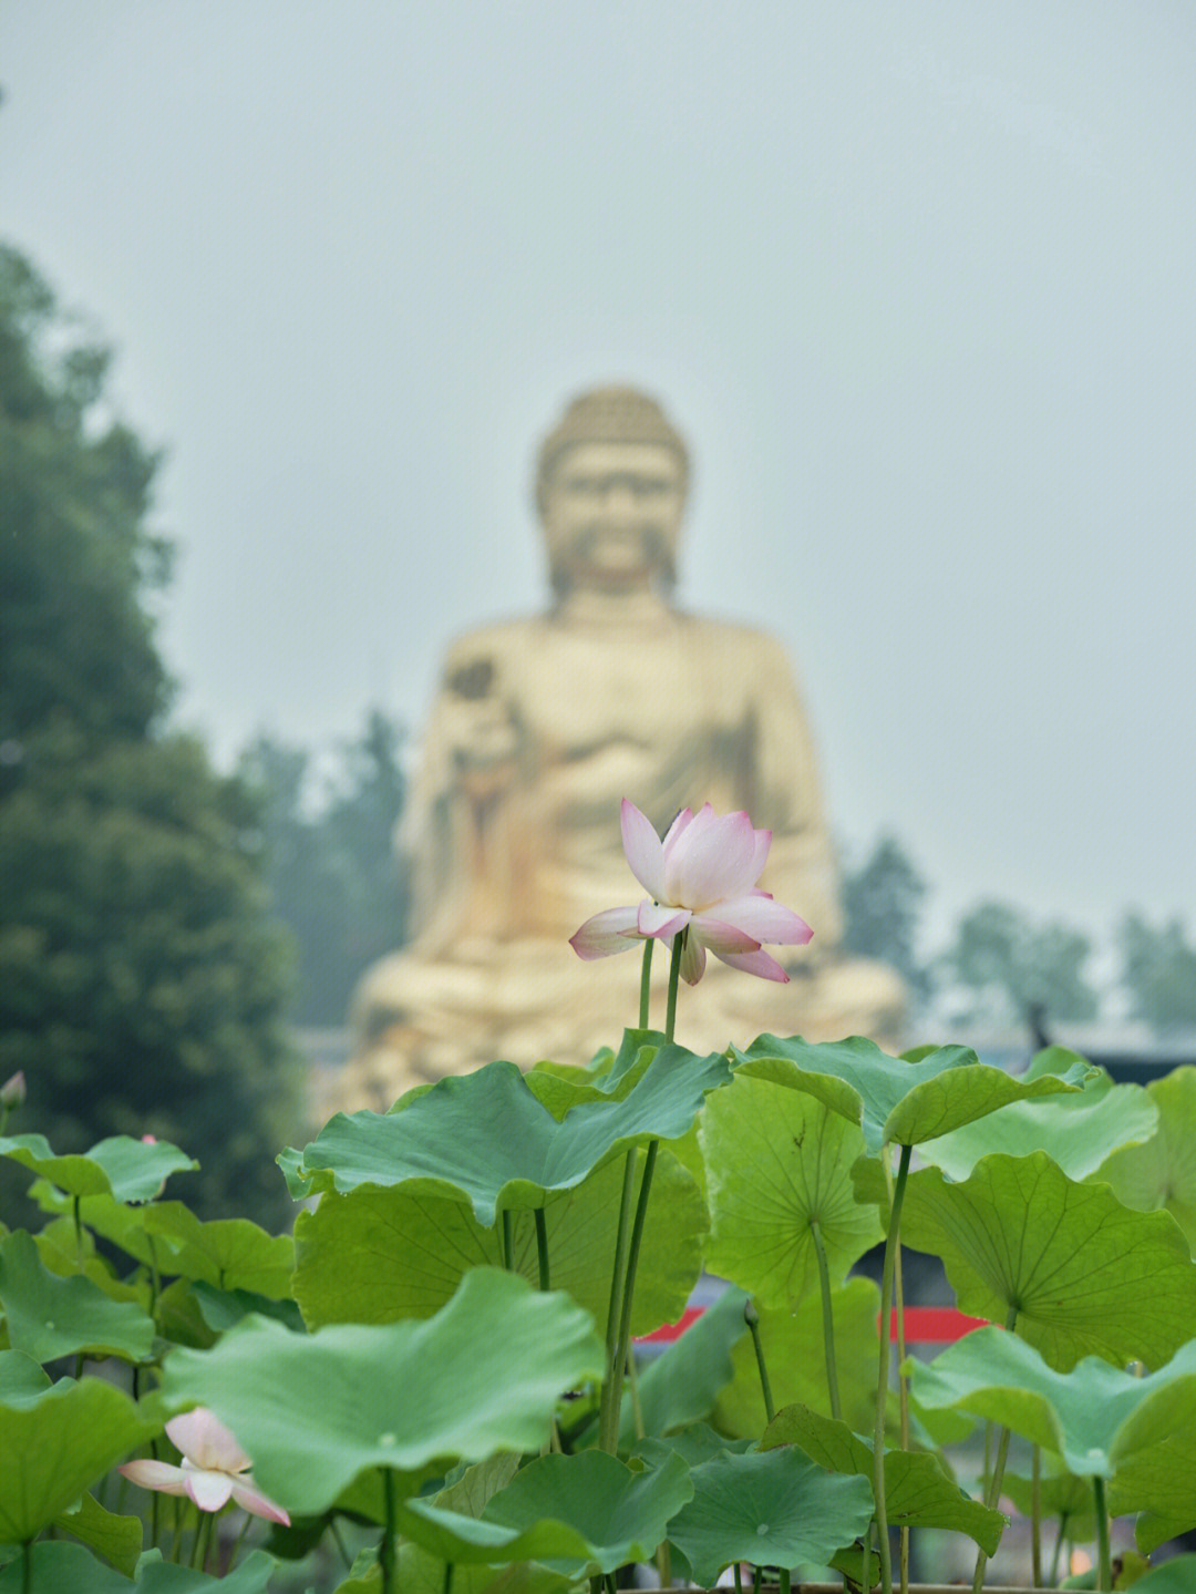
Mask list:
[[[596,387],[540,450],[537,504],[557,598],[578,587],[670,591],[690,480],[685,443],[634,387]]]

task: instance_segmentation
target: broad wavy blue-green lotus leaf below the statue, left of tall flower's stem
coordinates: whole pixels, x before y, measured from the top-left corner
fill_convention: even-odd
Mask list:
[[[581,1101],[559,1124],[514,1063],[487,1063],[401,1111],[338,1113],[303,1152],[301,1173],[314,1191],[401,1184],[468,1200],[489,1227],[502,1208],[543,1207],[623,1148],[683,1135],[729,1065],[715,1054],[674,1063],[661,1049],[623,1100]]]

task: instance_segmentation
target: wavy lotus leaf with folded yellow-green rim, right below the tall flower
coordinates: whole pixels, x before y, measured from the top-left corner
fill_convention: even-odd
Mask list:
[[[906,1062],[858,1035],[819,1044],[761,1035],[745,1052],[733,1047],[733,1060],[737,1073],[803,1090],[858,1124],[873,1154],[890,1143],[920,1146],[1010,1101],[1078,1090],[1088,1076],[1088,1065],[1077,1063],[1064,1076],[1014,1079],[967,1046],[938,1046]]]

